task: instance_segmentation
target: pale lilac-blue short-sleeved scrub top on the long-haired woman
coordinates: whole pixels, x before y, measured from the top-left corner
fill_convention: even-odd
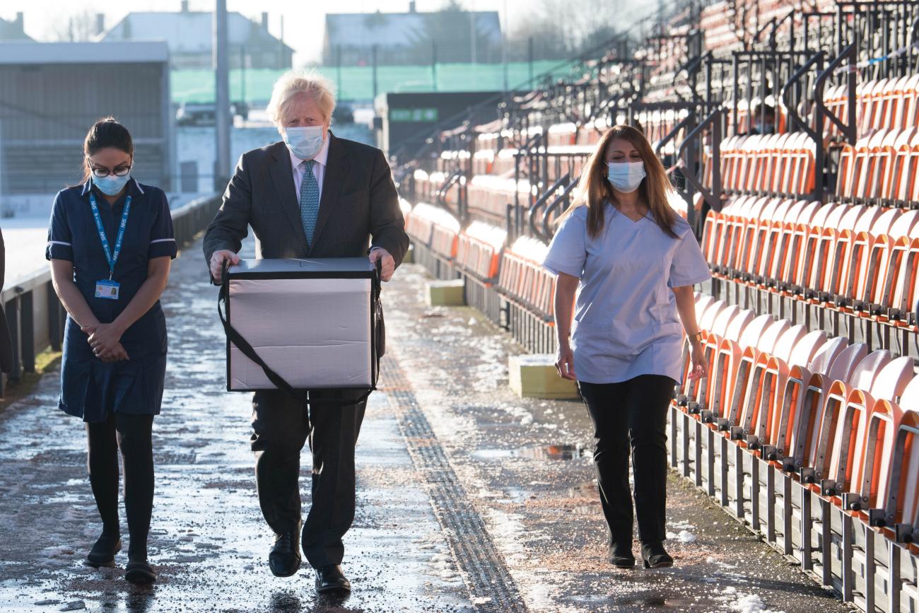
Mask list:
[[[710,278],[689,224],[676,218],[674,238],[649,211],[632,221],[607,202],[604,227],[587,234],[587,207],[562,222],[543,266],[580,278],[572,330],[574,374],[586,383],[640,375],[682,382],[683,326],[671,288]]]

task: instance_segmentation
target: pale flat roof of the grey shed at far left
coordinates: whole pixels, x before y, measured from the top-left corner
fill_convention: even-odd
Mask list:
[[[4,42],[0,64],[167,62],[162,41],[146,42]]]

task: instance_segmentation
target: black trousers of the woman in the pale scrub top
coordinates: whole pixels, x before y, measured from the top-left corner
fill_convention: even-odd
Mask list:
[[[579,382],[594,422],[594,465],[610,548],[632,540],[629,453],[641,542],[664,540],[667,507],[667,408],[675,380],[641,375],[620,383]]]

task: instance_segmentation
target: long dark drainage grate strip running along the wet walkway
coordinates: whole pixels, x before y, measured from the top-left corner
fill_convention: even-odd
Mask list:
[[[450,545],[459,570],[466,578],[475,610],[519,612],[527,610],[517,593],[514,578],[494,546],[482,517],[476,513],[444,449],[434,436],[415,400],[399,363],[383,358],[381,380],[391,403],[399,409],[399,429],[414,467],[428,483],[431,505]]]

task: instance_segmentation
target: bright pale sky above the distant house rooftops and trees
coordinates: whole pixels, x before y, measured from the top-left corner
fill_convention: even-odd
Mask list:
[[[211,10],[214,0],[189,0],[190,10]],[[284,16],[284,40],[297,54],[295,63],[317,60],[323,44],[324,12],[312,1],[291,0],[227,0],[227,9],[238,11],[247,17],[258,19],[262,11],[269,14],[268,29],[272,34],[280,34],[280,16]],[[409,0],[336,0],[330,3],[335,13],[364,13],[380,10],[383,12],[400,12],[408,10]],[[446,4],[446,0],[416,0],[419,11],[437,10]],[[471,10],[493,10],[501,13],[502,24],[515,27],[515,16],[520,12],[533,10],[533,0],[461,0],[462,6]],[[578,6],[578,0],[568,3]],[[596,3],[584,3],[594,5]],[[619,0],[609,0],[610,6],[618,5]],[[657,0],[626,0],[632,6],[656,7]],[[107,28],[115,25],[131,11],[169,11],[179,10],[180,0],[118,0],[118,2],[100,3],[98,0],[14,0],[0,3],[0,17],[12,19],[17,11],[24,15],[26,33],[36,40],[53,40],[56,29],[64,28],[67,18],[74,14],[90,11],[99,12],[104,6]],[[576,10],[576,9],[575,9]],[[611,11],[615,13],[615,11]]]

